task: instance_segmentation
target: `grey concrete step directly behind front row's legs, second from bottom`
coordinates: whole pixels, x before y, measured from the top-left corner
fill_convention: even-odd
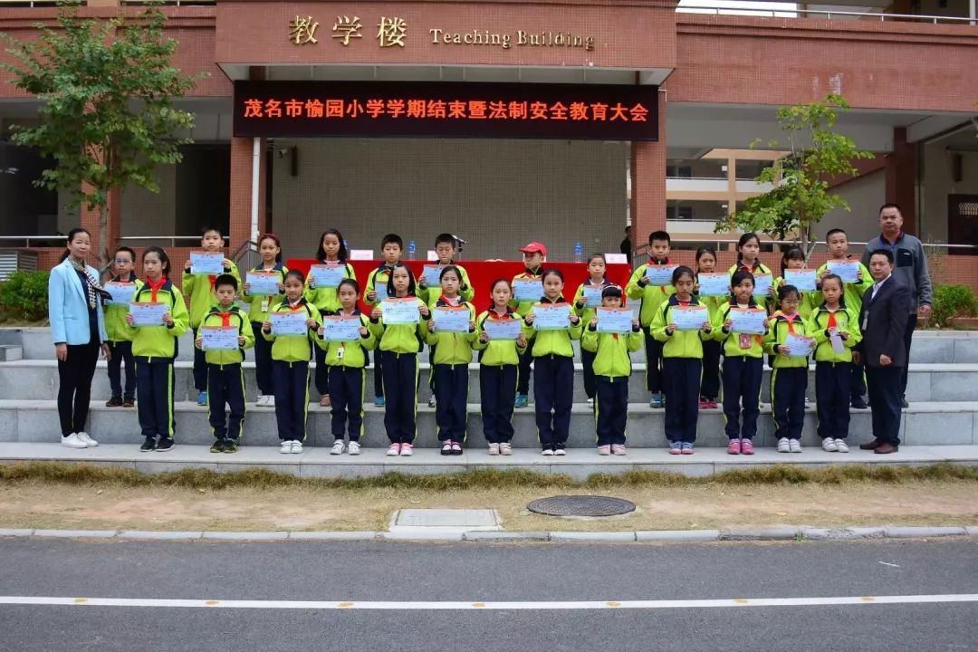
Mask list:
[[[758,446],[774,446],[774,423],[767,406],[762,406],[758,421]],[[331,446],[330,408],[310,406],[307,419],[307,442],[313,446]],[[183,444],[209,444],[212,442],[207,409],[196,403],[181,402],[175,407],[176,440]],[[869,411],[852,411],[850,439],[856,444],[871,439]],[[427,406],[418,408],[417,445],[422,448],[437,446],[435,411]],[[628,411],[628,440],[636,448],[661,448],[667,446],[664,436],[662,410],[647,405],[633,405]],[[385,447],[387,438],[383,427],[383,409],[373,405],[365,409],[365,437],[363,445]],[[536,445],[537,429],[531,408],[517,410],[512,418],[519,447]],[[106,408],[102,403],[92,403],[89,414],[89,434],[107,444],[140,443],[139,421],[135,408]],[[57,442],[61,433],[57,404],[54,401],[0,401],[0,442]],[[252,446],[278,444],[278,428],[275,409],[249,406],[244,418],[244,442]],[[911,446],[938,446],[952,444],[978,444],[978,402],[917,403],[904,412],[901,438]],[[698,443],[705,447],[727,445],[724,434],[724,415],[720,410],[704,410],[699,413]],[[483,446],[482,422],[479,406],[468,405],[468,441],[472,446]],[[806,414],[803,445],[818,446],[815,409]],[[568,447],[591,448],[595,445],[595,417],[587,404],[575,404],[572,408]]]

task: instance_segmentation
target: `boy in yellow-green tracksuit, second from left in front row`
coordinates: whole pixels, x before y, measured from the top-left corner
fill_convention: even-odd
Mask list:
[[[207,398],[210,407],[210,431],[214,435],[211,453],[237,453],[244,421],[244,349],[254,346],[254,335],[247,316],[235,303],[238,281],[222,274],[214,282],[217,305],[200,322],[194,346],[204,351],[207,361]],[[234,328],[238,333],[238,348],[233,350],[203,348],[200,333],[206,328]],[[229,413],[225,417],[224,404]]]

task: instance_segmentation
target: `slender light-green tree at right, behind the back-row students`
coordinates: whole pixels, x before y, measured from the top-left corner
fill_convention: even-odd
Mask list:
[[[747,199],[744,207],[721,220],[715,231],[740,229],[774,239],[800,239],[807,261],[817,241],[813,238],[815,225],[832,209],[849,210],[844,198],[829,193],[829,183],[840,176],[855,176],[859,170],[853,161],[857,158],[873,157],[870,152],[857,150],[848,136],[833,131],[839,111],[847,109],[848,103],[838,95],[778,109],[778,126],[787,143],[782,146],[776,140],[768,141],[766,149],[788,153],[754,179],[773,188]],[[760,142],[754,141],[751,149],[757,149]]]

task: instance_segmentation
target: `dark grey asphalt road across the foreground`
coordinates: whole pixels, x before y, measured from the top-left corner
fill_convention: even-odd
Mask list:
[[[882,562],[882,563],[881,563]],[[576,601],[978,593],[978,542],[0,540],[0,596]],[[503,611],[0,606],[0,650],[975,650],[978,602]]]

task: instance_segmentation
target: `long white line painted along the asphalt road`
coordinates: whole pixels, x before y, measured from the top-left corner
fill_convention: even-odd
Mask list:
[[[169,607],[202,609],[372,609],[380,611],[465,611],[465,610],[580,610],[580,609],[717,609],[721,607],[799,607],[867,604],[934,604],[978,602],[978,593],[938,595],[850,595],[839,597],[761,597],[716,600],[580,600],[526,602],[393,602],[356,600],[186,600],[125,597],[57,597],[0,595],[0,605],[84,607]]]

